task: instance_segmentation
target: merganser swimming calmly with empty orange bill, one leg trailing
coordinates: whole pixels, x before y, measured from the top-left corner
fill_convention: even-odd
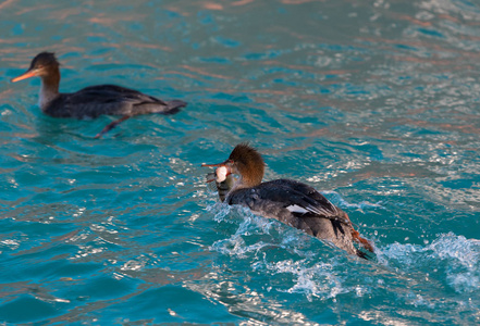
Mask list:
[[[32,60],[30,67],[12,83],[38,76],[41,78],[39,106],[53,117],[96,118],[99,115],[122,115],[106,126],[95,138],[114,128],[131,116],[148,113],[174,114],[186,105],[180,100],[162,101],[137,90],[98,85],[76,92],[59,92],[60,70],[54,53],[41,52]]]

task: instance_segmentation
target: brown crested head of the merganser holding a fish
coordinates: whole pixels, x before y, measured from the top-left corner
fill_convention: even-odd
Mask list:
[[[234,173],[242,175],[243,184],[255,187],[261,184],[264,173],[264,163],[260,153],[248,143],[237,145],[229,156]]]

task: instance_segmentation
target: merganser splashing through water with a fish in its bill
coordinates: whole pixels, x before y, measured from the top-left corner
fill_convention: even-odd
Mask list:
[[[223,202],[244,205],[256,214],[276,218],[349,254],[367,258],[354,241],[373,252],[372,244],[354,229],[348,215],[312,187],[291,179],[262,183],[263,159],[249,145],[237,145],[223,163],[202,166],[217,167],[214,178],[209,174],[208,181],[216,180]],[[235,180],[232,175],[238,178]],[[230,189],[226,196],[225,189]]]

